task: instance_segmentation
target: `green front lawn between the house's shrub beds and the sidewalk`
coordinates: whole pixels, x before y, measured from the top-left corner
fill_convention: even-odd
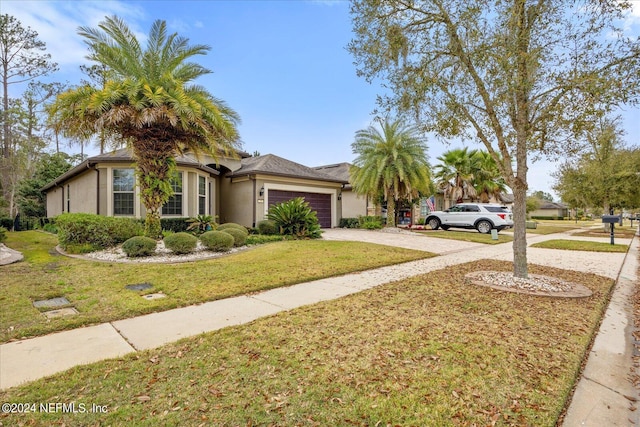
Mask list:
[[[0,267],[2,342],[434,256],[359,242],[298,240],[217,259],[135,264],[58,255],[56,236],[37,231],[8,233],[6,244],[25,259]],[[125,289],[141,283],[152,288]],[[156,292],[167,297],[141,296]],[[33,306],[56,297],[66,297],[79,314],[46,319]]]

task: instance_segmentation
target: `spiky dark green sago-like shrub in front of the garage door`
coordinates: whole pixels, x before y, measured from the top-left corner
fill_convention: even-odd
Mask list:
[[[267,218],[275,221],[280,234],[316,239],[322,233],[316,213],[302,197],[271,206]]]

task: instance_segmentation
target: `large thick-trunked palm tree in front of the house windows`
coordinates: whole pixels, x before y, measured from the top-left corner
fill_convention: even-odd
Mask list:
[[[61,94],[50,109],[68,136],[107,132],[126,143],[136,161],[138,185],[146,208],[145,232],[159,238],[160,209],[171,196],[175,156],[185,151],[233,154],[239,148],[239,117],[225,103],[191,82],[210,73],[188,62],[210,49],[167,34],[155,21],[146,49],[117,17],[99,28],[80,27],[88,58],[108,70],[99,88],[85,84]]]

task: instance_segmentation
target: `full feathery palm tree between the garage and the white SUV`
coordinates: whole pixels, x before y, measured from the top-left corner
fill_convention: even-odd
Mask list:
[[[380,121],[380,127],[356,132],[351,148],[358,157],[350,170],[351,184],[358,194],[383,197],[387,226],[395,227],[396,203],[431,190],[426,139],[400,120]]]

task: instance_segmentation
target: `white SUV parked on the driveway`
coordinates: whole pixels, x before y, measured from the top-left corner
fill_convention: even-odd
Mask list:
[[[505,206],[487,203],[459,203],[445,211],[434,211],[427,216],[426,224],[433,230],[450,227],[475,228],[480,233],[490,233],[513,227],[513,214]]]

